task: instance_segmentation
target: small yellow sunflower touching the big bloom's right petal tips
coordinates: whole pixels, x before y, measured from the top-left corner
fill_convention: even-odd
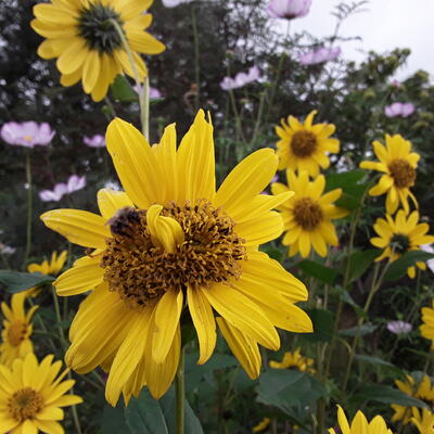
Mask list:
[[[271,191],[277,195],[288,191],[295,192],[278,207],[286,231],[282,243],[290,246],[289,256],[299,252],[303,257],[307,257],[311,247],[318,255],[326,256],[328,245],[339,244],[332,219],[348,214],[347,209],[333,205],[340,199],[342,190],[335,189],[322,194],[326,188],[323,175],[309,181],[309,175],[305,170],[298,176],[286,170],[286,178],[288,187],[279,182],[271,184]]]

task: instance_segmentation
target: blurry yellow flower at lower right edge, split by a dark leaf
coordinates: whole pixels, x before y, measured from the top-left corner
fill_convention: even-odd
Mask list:
[[[407,381],[395,380],[395,384],[399,391],[407,395],[430,403],[431,406],[434,404],[434,388],[431,384],[430,376],[423,375],[422,381],[418,384],[412,376],[407,375]],[[392,422],[403,421],[403,423],[409,423],[411,414],[414,416],[416,413],[413,412],[413,408],[416,409],[416,407],[405,407],[397,404],[392,404],[391,407],[395,410]]]

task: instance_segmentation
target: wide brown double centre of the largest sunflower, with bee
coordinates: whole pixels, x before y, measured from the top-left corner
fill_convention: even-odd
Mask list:
[[[206,288],[241,275],[244,240],[222,209],[199,200],[194,205],[173,203],[161,216],[176,220],[183,232],[171,252],[155,242],[145,209],[122,208],[107,222],[113,238],[101,261],[104,281],[127,305],[145,306],[173,288]]]

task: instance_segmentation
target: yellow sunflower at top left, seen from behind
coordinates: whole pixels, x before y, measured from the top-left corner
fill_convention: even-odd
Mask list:
[[[34,7],[33,29],[47,38],[38,49],[55,59],[62,86],[79,80],[86,93],[101,101],[117,74],[133,77],[128,53],[113,22],[124,33],[140,79],[148,75],[139,53],[159,54],[165,46],[149,33],[152,15],[143,14],[153,0],[52,0]]]

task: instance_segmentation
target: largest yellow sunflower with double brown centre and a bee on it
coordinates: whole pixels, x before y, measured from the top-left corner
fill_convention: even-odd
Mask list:
[[[94,252],[54,282],[59,295],[94,291],[71,327],[67,363],[77,372],[110,370],[106,398],[126,400],[148,385],[169,387],[180,352],[180,318],[189,316],[199,363],[216,345],[217,323],[248,375],[260,370],[258,343],[280,346],[276,327],[310,332],[296,302],[304,284],[258,245],[280,235],[270,209],[289,192],[261,195],[276,173],[270,149],[243,159],[216,192],[213,126],[201,111],[176,144],[175,125],[150,146],[120,119],[107,129],[107,150],[125,192],[101,190],[100,215],[56,209],[41,216],[51,229]],[[186,309],[184,309],[186,307]]]

